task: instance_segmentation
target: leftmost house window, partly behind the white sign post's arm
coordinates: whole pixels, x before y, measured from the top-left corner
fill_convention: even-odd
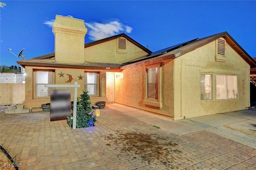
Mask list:
[[[53,71],[35,71],[36,97],[50,96],[53,88],[44,87],[45,84],[53,84]]]

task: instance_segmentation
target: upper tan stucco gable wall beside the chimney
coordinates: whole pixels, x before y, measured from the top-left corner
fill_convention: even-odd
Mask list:
[[[138,48],[130,41],[126,40],[126,54],[117,52],[117,40],[110,40],[95,46],[84,48],[84,61],[86,62],[106,62],[106,63],[125,63],[134,58],[144,56],[147,53]]]

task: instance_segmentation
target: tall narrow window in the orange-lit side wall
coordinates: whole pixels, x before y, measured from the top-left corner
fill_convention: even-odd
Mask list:
[[[158,67],[147,69],[147,98],[158,100]]]

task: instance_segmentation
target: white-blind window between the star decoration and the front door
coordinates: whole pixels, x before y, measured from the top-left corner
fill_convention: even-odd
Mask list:
[[[99,87],[98,87],[98,73],[95,72],[85,72],[85,84],[84,89],[88,91],[89,95],[98,95]]]

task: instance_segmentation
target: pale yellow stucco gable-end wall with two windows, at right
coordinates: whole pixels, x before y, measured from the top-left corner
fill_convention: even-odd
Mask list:
[[[174,119],[244,110],[250,106],[250,66],[226,44],[226,62],[215,61],[215,42],[174,60]],[[200,100],[200,73],[213,74],[213,100]],[[237,75],[238,98],[216,100],[216,74]]]

